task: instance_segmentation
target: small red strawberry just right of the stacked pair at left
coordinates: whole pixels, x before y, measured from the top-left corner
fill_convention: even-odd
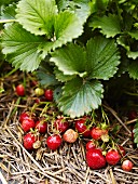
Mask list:
[[[39,120],[39,121],[36,122],[34,128],[38,129],[38,131],[40,133],[46,133],[46,131],[47,131],[47,122],[44,121],[44,120]]]

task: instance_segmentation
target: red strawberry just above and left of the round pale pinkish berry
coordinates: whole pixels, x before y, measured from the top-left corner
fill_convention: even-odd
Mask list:
[[[60,133],[64,133],[69,128],[69,122],[61,117],[55,120],[54,126],[56,130],[58,130]]]

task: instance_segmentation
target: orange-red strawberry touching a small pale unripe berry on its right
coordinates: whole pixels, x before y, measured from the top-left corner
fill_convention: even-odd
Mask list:
[[[94,140],[100,140],[104,134],[108,134],[108,130],[102,130],[99,127],[94,127],[91,131],[91,136]]]

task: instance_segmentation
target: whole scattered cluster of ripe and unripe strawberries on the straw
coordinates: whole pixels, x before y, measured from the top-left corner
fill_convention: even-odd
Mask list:
[[[16,93],[20,96],[25,95],[22,84],[16,87]],[[37,104],[43,101],[53,102],[51,89],[36,88],[34,93],[39,96],[36,98]],[[50,149],[56,150],[63,142],[74,143],[78,139],[85,137],[86,163],[89,168],[101,169],[107,163],[115,166],[121,162],[123,170],[130,171],[133,169],[133,162],[125,159],[124,147],[111,139],[110,126],[105,122],[96,123],[95,119],[89,116],[73,120],[56,116],[55,119],[47,120],[43,116],[37,118],[33,113],[23,111],[19,122],[24,131],[23,144],[28,150],[39,148],[43,140]]]

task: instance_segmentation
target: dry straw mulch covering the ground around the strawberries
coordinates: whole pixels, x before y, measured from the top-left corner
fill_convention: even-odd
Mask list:
[[[101,170],[89,169],[85,162],[84,139],[74,144],[63,143],[58,150],[51,152],[45,145],[45,135],[40,148],[27,152],[22,144],[18,116],[30,107],[33,95],[28,89],[30,95],[18,100],[14,86],[20,80],[22,73],[0,78],[5,89],[0,93],[0,179],[3,184],[138,184],[138,150],[132,146],[129,127],[110,107],[107,110],[122,126],[116,137],[135,165],[132,172],[123,171],[120,163]]]

